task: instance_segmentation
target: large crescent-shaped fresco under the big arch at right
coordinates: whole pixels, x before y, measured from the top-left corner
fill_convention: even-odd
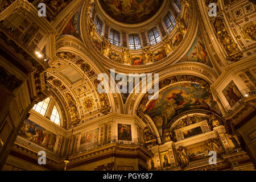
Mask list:
[[[151,100],[146,106],[145,114],[154,121],[159,135],[177,115],[193,109],[210,110],[220,113],[217,102],[203,85],[184,82],[171,85],[159,92],[156,100]]]

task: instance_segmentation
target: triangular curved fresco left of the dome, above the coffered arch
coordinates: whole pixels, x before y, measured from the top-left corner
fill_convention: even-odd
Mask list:
[[[68,34],[73,35],[77,39],[81,39],[81,31],[80,31],[80,15],[81,15],[81,9],[80,9],[72,16],[72,18],[69,20],[67,26],[63,29],[62,34]]]

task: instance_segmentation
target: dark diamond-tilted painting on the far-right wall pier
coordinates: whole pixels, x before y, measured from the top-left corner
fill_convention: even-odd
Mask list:
[[[237,85],[234,84],[233,81],[230,81],[225,89],[222,90],[222,93],[224,94],[226,100],[229,102],[230,107],[233,107],[242,98],[240,90],[237,88]]]

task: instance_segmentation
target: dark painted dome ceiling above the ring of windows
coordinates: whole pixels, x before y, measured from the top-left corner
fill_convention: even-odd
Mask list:
[[[104,11],[121,23],[136,24],[150,19],[163,0],[100,0]]]

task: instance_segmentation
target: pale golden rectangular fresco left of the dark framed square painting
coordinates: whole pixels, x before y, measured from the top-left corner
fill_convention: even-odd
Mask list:
[[[81,134],[80,146],[88,146],[90,144],[98,142],[98,133],[99,129],[97,128],[94,130],[87,131],[84,134]]]

